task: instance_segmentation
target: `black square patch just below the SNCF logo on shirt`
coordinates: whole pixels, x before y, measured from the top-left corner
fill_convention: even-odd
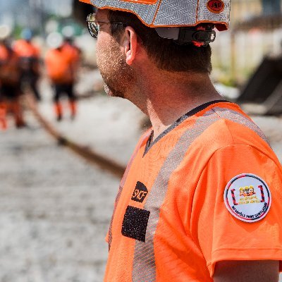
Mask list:
[[[121,233],[125,237],[145,242],[149,211],[128,206],[123,218]]]

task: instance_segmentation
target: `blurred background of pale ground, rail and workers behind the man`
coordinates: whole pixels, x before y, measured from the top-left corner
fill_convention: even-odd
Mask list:
[[[281,0],[232,0],[212,80],[282,161]],[[92,7],[0,0],[0,282],[102,281],[123,169],[149,121],[104,94]],[[282,281],[282,278],[281,278]]]

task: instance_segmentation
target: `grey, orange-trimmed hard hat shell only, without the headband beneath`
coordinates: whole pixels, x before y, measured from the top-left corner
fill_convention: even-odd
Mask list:
[[[149,27],[196,26],[212,23],[227,30],[231,0],[80,0],[97,8],[134,13]]]

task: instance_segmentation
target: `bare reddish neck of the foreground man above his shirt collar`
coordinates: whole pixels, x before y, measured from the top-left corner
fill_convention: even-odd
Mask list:
[[[208,74],[154,73],[150,79],[142,80],[138,88],[145,99],[134,103],[149,116],[154,139],[196,106],[222,99]]]

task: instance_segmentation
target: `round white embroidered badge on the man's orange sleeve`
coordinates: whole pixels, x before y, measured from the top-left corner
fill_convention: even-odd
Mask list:
[[[271,194],[265,181],[251,173],[232,178],[224,190],[228,211],[245,222],[259,221],[269,212]]]

